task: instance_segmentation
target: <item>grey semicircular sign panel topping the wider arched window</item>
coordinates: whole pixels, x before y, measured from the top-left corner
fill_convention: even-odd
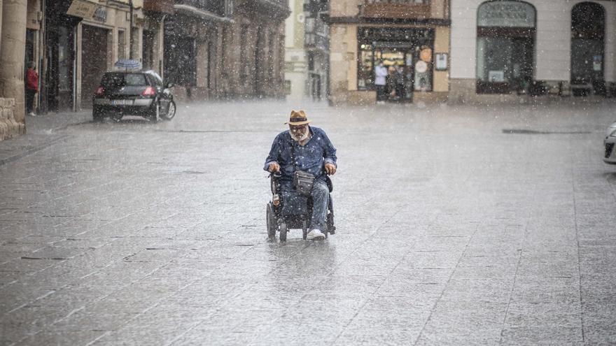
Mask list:
[[[482,3],[477,13],[479,27],[535,27],[535,8],[521,1]]]

